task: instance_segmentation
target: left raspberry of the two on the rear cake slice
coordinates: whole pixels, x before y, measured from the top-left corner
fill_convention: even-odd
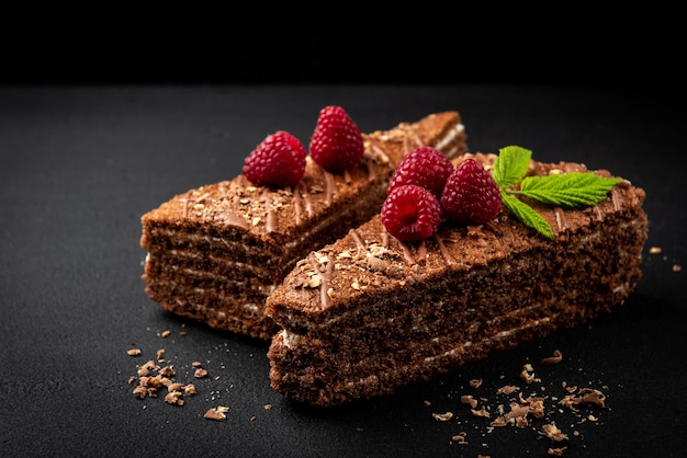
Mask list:
[[[268,135],[244,161],[244,175],[258,186],[293,186],[305,173],[305,147],[284,130]]]

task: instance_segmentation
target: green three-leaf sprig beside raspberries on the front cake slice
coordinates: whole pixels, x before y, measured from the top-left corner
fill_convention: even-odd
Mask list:
[[[525,176],[532,159],[529,149],[508,146],[499,149],[494,162],[494,181],[502,202],[522,224],[553,239],[549,222],[518,196],[547,205],[576,208],[599,204],[620,179],[599,176],[594,172],[571,172],[545,176]],[[519,184],[519,188],[514,186]]]

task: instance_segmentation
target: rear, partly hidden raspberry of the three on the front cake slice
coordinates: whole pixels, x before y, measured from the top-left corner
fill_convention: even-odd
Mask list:
[[[446,181],[452,171],[453,164],[441,151],[432,147],[416,148],[403,158],[394,171],[386,193],[388,194],[396,186],[416,184],[440,198]]]

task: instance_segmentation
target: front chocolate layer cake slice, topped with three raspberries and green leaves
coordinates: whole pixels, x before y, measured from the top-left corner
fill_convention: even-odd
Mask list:
[[[531,161],[527,173],[572,171],[586,168]],[[390,394],[610,311],[641,278],[644,196],[621,180],[595,206],[532,203],[553,239],[506,208],[404,243],[375,216],[309,253],[269,297],[283,328],[268,352],[272,387],[323,407]]]

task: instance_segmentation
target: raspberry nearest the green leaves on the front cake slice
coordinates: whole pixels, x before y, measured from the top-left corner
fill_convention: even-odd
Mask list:
[[[500,205],[494,178],[472,158],[455,168],[441,194],[443,216],[458,225],[482,225],[498,215]]]

